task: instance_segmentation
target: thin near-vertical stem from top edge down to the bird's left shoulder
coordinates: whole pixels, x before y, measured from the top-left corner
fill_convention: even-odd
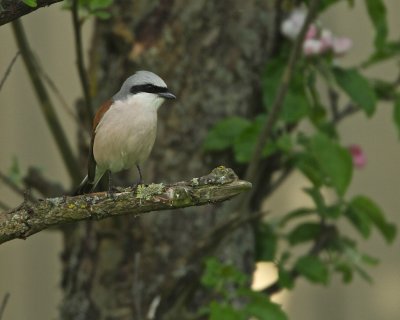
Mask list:
[[[81,23],[79,21],[78,10],[79,10],[78,0],[72,0],[71,13],[72,13],[72,23],[74,27],[74,36],[75,36],[76,63],[78,66],[78,73],[82,85],[83,96],[85,97],[86,116],[87,116],[86,121],[90,127],[90,123],[93,119],[93,107],[89,90],[89,82],[85,70],[85,62],[83,58]]]

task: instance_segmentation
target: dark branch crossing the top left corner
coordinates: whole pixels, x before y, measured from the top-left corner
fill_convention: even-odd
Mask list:
[[[36,11],[44,6],[49,6],[51,4],[61,2],[62,0],[37,0],[36,7],[29,7],[22,1],[2,1],[1,5],[3,6],[0,11],[0,26],[3,24],[9,23],[23,15],[26,15],[32,11]]]

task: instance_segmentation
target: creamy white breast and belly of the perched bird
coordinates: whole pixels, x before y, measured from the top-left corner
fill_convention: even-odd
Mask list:
[[[93,145],[96,175],[107,169],[118,172],[132,168],[149,157],[161,103],[162,99],[153,94],[136,94],[113,103],[96,128]]]

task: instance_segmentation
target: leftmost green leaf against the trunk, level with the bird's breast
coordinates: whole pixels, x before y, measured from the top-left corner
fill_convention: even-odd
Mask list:
[[[233,145],[234,140],[251,122],[240,117],[230,117],[218,122],[207,134],[203,147],[206,151],[221,151]]]

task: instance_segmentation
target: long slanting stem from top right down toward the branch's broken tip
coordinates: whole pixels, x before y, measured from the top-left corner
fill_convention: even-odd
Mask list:
[[[271,111],[268,114],[268,118],[261,129],[261,133],[257,140],[253,156],[250,160],[249,166],[247,167],[245,174],[245,180],[247,181],[254,182],[257,177],[257,169],[261,159],[262,150],[265,144],[268,142],[273,126],[282,109],[282,105],[289,87],[289,83],[292,79],[294,68],[296,66],[298,57],[300,56],[301,53],[301,47],[304,41],[304,36],[308,30],[310,23],[314,20],[314,17],[317,13],[318,5],[319,5],[319,0],[311,1],[306,20],[301,28],[300,34],[298,35],[293,45],[293,49],[289,57],[289,62],[282,75],[281,83],[278,92],[276,94],[275,101],[272,105]]]

